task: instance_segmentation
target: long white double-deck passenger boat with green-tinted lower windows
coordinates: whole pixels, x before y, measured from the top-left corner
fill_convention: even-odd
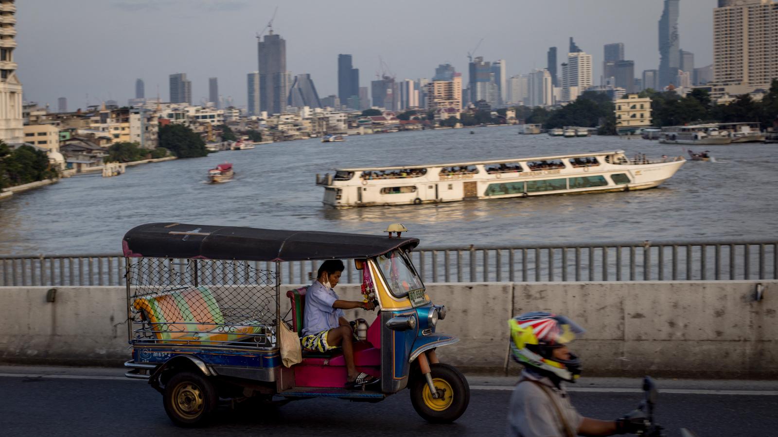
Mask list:
[[[499,159],[423,166],[338,169],[316,175],[324,205],[335,208],[419,205],[466,199],[527,198],[542,194],[645,190],[672,177],[685,163],[629,159],[624,151]]]

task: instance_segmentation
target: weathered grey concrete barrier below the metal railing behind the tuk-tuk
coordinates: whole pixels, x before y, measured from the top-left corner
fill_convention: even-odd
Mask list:
[[[762,300],[755,288],[764,286]],[[282,312],[289,309],[282,288]],[[115,365],[128,359],[121,287],[0,287],[0,362]],[[361,300],[358,285],[338,285]],[[511,316],[562,313],[587,329],[574,349],[591,376],[778,377],[778,281],[629,281],[428,284],[448,315],[438,330],[461,338],[444,362],[503,372]],[[375,313],[346,311],[372,322]],[[518,366],[508,360],[508,372]]]

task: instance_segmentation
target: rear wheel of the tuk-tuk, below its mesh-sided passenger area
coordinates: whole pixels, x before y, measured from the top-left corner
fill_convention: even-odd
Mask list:
[[[182,427],[205,425],[216,408],[216,388],[195,372],[180,372],[165,385],[163,404],[174,424]]]

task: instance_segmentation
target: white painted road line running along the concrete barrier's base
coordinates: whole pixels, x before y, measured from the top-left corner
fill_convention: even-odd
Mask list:
[[[0,378],[28,379],[97,379],[109,381],[138,381],[126,376],[91,376],[91,375],[47,375],[41,373],[0,373]],[[470,390],[512,391],[514,386],[470,386]],[[571,393],[643,393],[640,389],[608,388],[608,387],[573,387],[567,386]],[[731,394],[739,396],[778,396],[778,390],[711,390],[711,389],[660,389],[659,393],[677,394]]]

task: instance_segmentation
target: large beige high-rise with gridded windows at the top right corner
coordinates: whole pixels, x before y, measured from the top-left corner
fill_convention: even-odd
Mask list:
[[[720,0],[713,9],[713,95],[769,89],[778,77],[778,3]]]

